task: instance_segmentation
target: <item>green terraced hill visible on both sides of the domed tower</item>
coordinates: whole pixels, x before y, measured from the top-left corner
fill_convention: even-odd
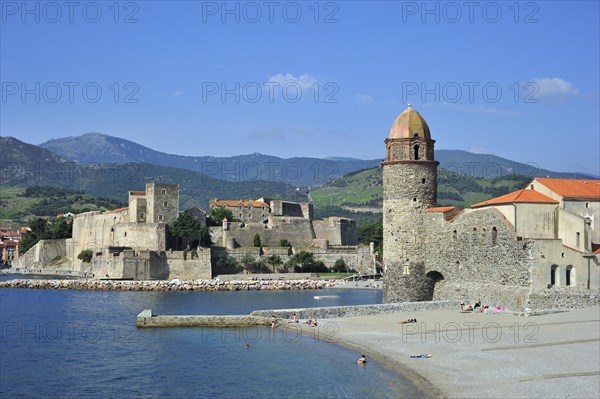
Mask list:
[[[463,176],[447,170],[438,172],[438,204],[466,208],[523,188],[531,177],[505,176],[485,179]],[[381,212],[383,204],[381,168],[350,173],[311,191],[317,208],[341,207],[349,211]]]

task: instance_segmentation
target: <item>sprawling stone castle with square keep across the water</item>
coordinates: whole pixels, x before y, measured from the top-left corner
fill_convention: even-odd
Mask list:
[[[314,219],[311,203],[260,198],[214,200],[210,206],[232,210],[235,221],[210,227],[215,246],[193,248],[193,256],[172,250],[168,242],[167,225],[180,213],[179,186],[148,183],[145,191],[129,192],[128,207],[74,215],[72,238],[41,240],[19,257],[15,268],[106,279],[212,278],[218,273],[213,265],[219,257],[279,255],[285,262],[307,250],[328,267],[341,258],[349,269],[374,270],[374,251],[358,245],[354,220]],[[202,209],[185,212],[206,226]],[[257,234],[259,248],[254,246]],[[290,246],[281,246],[282,240]],[[89,262],[79,259],[82,251],[91,251]]]

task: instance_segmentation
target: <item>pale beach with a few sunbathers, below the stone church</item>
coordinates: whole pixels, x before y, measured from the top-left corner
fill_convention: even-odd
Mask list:
[[[417,323],[399,323],[412,318]],[[600,397],[598,306],[530,317],[457,309],[319,322],[323,340],[398,370],[429,397]]]

